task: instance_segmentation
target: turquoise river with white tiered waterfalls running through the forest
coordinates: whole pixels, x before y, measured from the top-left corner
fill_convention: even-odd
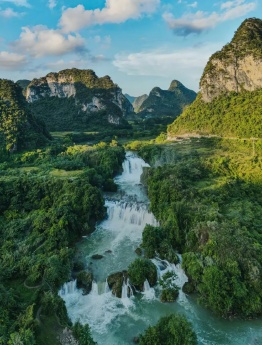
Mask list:
[[[128,283],[123,284],[122,298],[111,293],[107,276],[127,269],[137,257],[135,249],[141,242],[144,226],[157,224],[148,211],[149,202],[140,184],[140,175],[146,166],[141,158],[127,153],[123,173],[115,179],[118,192],[106,200],[107,218],[79,245],[79,255],[93,272],[94,282],[91,293],[85,296],[74,281],[62,287],[59,294],[65,300],[70,318],[73,322],[88,323],[98,345],[133,344],[135,336],[170,313],[183,314],[192,322],[201,345],[262,345],[261,319],[218,319],[182,290],[174,303],[161,303],[159,287],[150,288],[147,281],[144,292],[136,296],[127,297]],[[94,260],[91,258],[94,254],[101,254],[103,258]],[[157,258],[153,262],[160,276],[173,271],[178,286],[182,287],[187,281],[180,264],[171,265]]]

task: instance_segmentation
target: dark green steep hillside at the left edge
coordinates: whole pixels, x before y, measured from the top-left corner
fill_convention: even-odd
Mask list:
[[[45,125],[28,110],[22,89],[5,79],[0,79],[0,120],[0,142],[9,152],[41,146],[50,139]]]

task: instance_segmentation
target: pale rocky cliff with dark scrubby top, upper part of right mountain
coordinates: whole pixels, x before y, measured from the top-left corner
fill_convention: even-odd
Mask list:
[[[245,20],[232,41],[211,56],[200,81],[202,99],[211,102],[230,91],[262,87],[262,20]]]

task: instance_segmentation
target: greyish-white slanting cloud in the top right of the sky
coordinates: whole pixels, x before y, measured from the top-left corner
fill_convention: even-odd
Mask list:
[[[255,2],[236,0],[222,4],[220,13],[197,11],[196,13],[185,14],[181,18],[174,18],[172,13],[164,13],[163,18],[174,33],[186,36],[212,29],[221,22],[242,17],[255,8]]]

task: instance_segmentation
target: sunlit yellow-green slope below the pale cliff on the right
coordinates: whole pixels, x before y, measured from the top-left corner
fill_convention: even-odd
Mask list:
[[[218,135],[222,137],[261,138],[262,90],[231,92],[210,103],[198,95],[184,113],[169,127],[169,136],[187,133]]]

